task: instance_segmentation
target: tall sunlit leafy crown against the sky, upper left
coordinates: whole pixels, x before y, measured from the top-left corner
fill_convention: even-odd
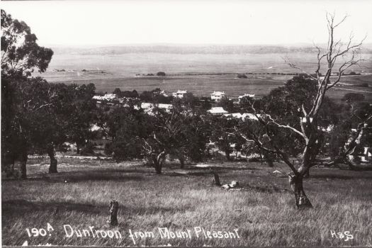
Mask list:
[[[53,52],[36,43],[36,35],[25,22],[1,9],[1,31],[1,73],[30,76],[34,69],[45,72]]]

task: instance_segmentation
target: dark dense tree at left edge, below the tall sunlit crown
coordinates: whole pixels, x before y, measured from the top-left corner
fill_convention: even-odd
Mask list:
[[[52,120],[50,113],[55,91],[40,78],[16,79],[4,76],[1,79],[2,94],[6,96],[1,99],[1,115],[4,117],[4,114],[9,114],[6,118],[1,118],[1,155],[5,163],[14,163],[16,159],[20,159],[21,177],[25,179],[28,152],[35,150],[35,147],[40,149],[40,144],[45,145],[45,140],[53,140],[52,129],[55,127],[49,120]]]

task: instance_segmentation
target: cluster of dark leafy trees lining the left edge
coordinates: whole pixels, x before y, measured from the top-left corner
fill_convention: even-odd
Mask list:
[[[94,84],[49,84],[30,77],[45,72],[52,50],[40,47],[26,23],[1,10],[1,169],[21,163],[26,178],[28,154],[48,154],[50,173],[57,172],[55,148],[64,142],[77,147],[93,137]],[[79,149],[79,148],[78,148]]]

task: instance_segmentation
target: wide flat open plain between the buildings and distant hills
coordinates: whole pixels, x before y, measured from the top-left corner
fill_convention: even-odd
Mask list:
[[[365,57],[371,59],[370,56]],[[102,92],[112,92],[115,88],[139,92],[161,88],[168,93],[186,89],[196,96],[209,96],[213,91],[225,91],[232,97],[243,93],[263,96],[293,77],[282,73],[301,73],[288,67],[283,57],[290,57],[292,62],[308,72],[315,70],[315,55],[310,53],[205,55],[152,52],[122,55],[56,54],[49,71],[35,75],[50,82],[93,83],[97,91]],[[339,99],[346,93],[354,92],[364,94],[367,101],[372,101],[371,60],[354,70],[362,75],[343,77],[342,84],[329,91],[329,96]],[[157,72],[166,72],[167,76],[135,77],[136,74]],[[237,79],[237,74],[247,74],[248,79]],[[361,83],[367,83],[368,87],[355,86]]]

